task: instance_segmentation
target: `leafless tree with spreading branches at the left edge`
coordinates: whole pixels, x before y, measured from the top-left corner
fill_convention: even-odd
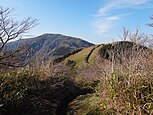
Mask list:
[[[23,48],[17,48],[13,52],[8,52],[4,51],[4,47],[9,41],[15,40],[25,33],[28,33],[28,31],[36,25],[36,21],[36,19],[30,17],[18,21],[13,15],[13,9],[0,7],[0,65],[13,66],[13,63],[10,63],[13,62],[13,60],[9,63],[8,61],[14,59],[14,57],[18,57],[24,50]]]

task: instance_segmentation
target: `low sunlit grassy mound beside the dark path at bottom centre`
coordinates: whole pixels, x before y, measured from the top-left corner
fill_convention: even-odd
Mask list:
[[[68,115],[101,115],[101,99],[97,95],[88,94],[79,96],[72,103],[70,103],[70,110]],[[105,108],[105,107],[104,107]]]

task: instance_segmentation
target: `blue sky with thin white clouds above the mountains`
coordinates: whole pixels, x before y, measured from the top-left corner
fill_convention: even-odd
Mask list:
[[[153,33],[145,25],[153,22],[153,0],[0,0],[0,5],[14,8],[18,19],[38,19],[31,36],[60,33],[104,43],[117,40],[123,27]]]

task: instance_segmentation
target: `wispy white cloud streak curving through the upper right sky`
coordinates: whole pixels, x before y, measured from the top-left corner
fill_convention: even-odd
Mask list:
[[[115,24],[123,17],[125,14],[120,15],[110,15],[114,10],[122,10],[127,8],[142,7],[147,8],[148,3],[151,0],[110,0],[108,3],[101,7],[97,14],[95,15],[96,21],[94,22],[94,27],[97,34],[104,34],[109,32]]]

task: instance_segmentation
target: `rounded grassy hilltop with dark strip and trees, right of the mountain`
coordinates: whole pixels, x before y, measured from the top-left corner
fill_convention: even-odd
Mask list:
[[[114,59],[116,61],[121,60],[122,54],[125,56],[130,57],[132,55],[132,51],[143,50],[146,55],[148,52],[152,52],[151,49],[147,47],[137,45],[132,42],[114,42],[111,44],[101,44],[101,45],[94,45],[88,48],[84,48],[83,50],[70,55],[69,57],[65,58],[64,61],[67,62],[68,60],[72,60],[76,62],[76,65],[81,66],[81,64],[95,64],[96,61],[100,58],[101,60],[111,60],[111,56],[114,55]]]

